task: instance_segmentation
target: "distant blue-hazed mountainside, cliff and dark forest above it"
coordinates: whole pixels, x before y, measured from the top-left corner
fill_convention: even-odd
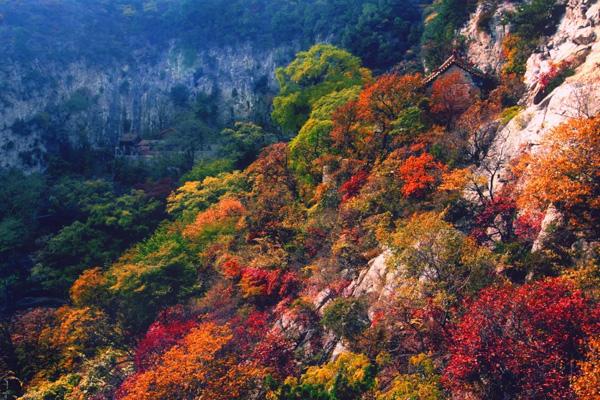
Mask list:
[[[210,98],[218,125],[268,123],[275,68],[296,51],[328,41],[386,69],[416,54],[420,20],[404,0],[2,2],[0,165],[156,135],[181,86]]]

